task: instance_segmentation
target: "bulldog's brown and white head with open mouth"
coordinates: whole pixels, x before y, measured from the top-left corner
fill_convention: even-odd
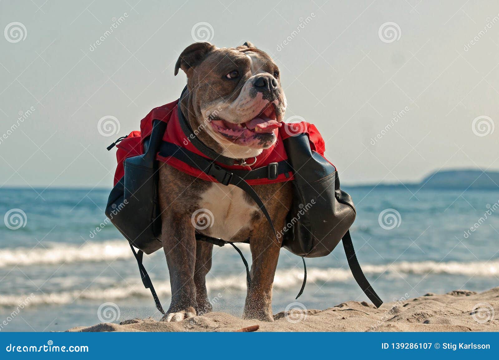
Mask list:
[[[250,42],[217,48],[188,46],[175,65],[187,74],[183,111],[207,145],[232,158],[256,156],[272,146],[286,110],[279,69]],[[207,135],[205,135],[207,134]]]

